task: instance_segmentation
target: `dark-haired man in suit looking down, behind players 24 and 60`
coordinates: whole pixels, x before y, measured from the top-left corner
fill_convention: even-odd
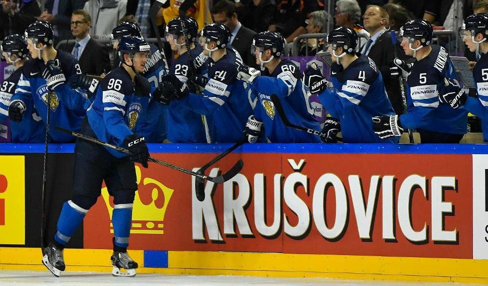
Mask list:
[[[229,0],[220,0],[212,7],[213,20],[225,24],[231,32],[230,45],[241,55],[247,66],[257,68],[256,58],[251,54],[251,44],[256,32],[244,27],[237,19],[234,3]]]

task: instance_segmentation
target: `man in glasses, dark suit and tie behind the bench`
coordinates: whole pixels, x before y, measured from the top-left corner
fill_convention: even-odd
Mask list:
[[[110,58],[107,50],[90,37],[90,26],[91,17],[87,11],[74,11],[71,15],[71,33],[76,42],[61,48],[78,59],[83,74],[100,76],[110,72]]]

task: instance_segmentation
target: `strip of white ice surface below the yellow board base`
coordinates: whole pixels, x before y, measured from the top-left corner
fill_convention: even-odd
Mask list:
[[[138,274],[134,278],[113,277],[110,273],[63,272],[59,278],[47,270],[0,271],[0,286],[461,286],[456,283],[384,282],[341,280],[328,278],[260,278],[247,276],[188,276],[164,274]],[[476,284],[472,284],[476,285]],[[478,284],[479,285],[479,284]]]

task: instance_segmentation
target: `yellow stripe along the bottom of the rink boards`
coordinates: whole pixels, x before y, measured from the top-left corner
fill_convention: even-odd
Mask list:
[[[144,265],[143,250],[129,250]],[[110,273],[112,250],[66,249],[69,271]],[[38,248],[0,247],[0,269],[45,270]],[[488,260],[247,252],[168,251],[168,268],[138,273],[326,277],[488,284]]]

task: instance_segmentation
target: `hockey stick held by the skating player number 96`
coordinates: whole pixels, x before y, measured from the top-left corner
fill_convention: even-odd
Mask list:
[[[119,147],[119,146],[112,145],[112,144],[107,143],[107,142],[100,141],[100,140],[98,140],[96,138],[93,138],[93,137],[90,137],[90,136],[86,136],[86,135],[80,134],[78,132],[70,131],[68,129],[64,129],[64,128],[59,127],[59,126],[56,126],[56,129],[59,130],[59,131],[62,131],[62,132],[71,134],[71,135],[73,135],[75,137],[81,138],[83,140],[90,141],[92,143],[96,143],[96,144],[99,144],[99,145],[102,145],[102,146],[105,146],[105,147],[108,147],[108,148],[111,148],[111,149],[114,149],[114,150],[117,150],[117,151],[120,151],[120,152],[129,153],[129,150],[127,150],[127,149],[124,149],[124,148]],[[151,161],[151,162],[154,162],[156,164],[160,164],[160,165],[163,165],[165,167],[174,169],[176,171],[180,171],[180,172],[183,172],[183,173],[186,173],[186,174],[195,176],[197,178],[201,178],[203,180],[207,180],[207,181],[210,181],[210,182],[213,182],[213,183],[217,183],[217,184],[224,183],[225,181],[228,181],[229,179],[233,178],[235,175],[237,175],[237,173],[239,173],[241,171],[242,167],[244,166],[244,163],[242,162],[242,160],[239,160],[239,161],[237,161],[237,163],[227,173],[225,173],[225,174],[223,174],[221,176],[217,176],[217,177],[209,177],[209,176],[205,176],[205,175],[202,175],[202,174],[198,174],[198,173],[195,173],[195,172],[193,172],[191,170],[188,170],[188,169],[185,169],[185,168],[182,168],[182,167],[173,165],[171,163],[166,163],[164,161],[161,161],[161,160],[158,160],[158,159],[155,159],[155,158],[152,158],[152,157],[148,157],[148,161]]]

